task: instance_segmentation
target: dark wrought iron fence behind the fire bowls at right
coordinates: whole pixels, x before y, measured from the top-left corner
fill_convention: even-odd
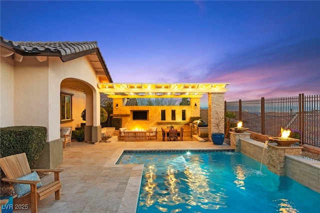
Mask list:
[[[280,136],[281,127],[298,131],[301,143],[320,146],[320,95],[264,98],[224,102],[235,112],[231,122],[242,121],[251,131]]]

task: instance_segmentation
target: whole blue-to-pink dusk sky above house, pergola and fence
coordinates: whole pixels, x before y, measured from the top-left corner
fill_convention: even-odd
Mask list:
[[[13,41],[97,41],[113,82],[229,82],[225,100],[320,92],[320,1],[0,1]]]

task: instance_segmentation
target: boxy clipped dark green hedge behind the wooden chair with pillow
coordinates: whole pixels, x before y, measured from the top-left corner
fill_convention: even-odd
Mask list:
[[[33,168],[40,158],[46,142],[47,129],[44,126],[10,126],[0,128],[0,156],[25,152]]]

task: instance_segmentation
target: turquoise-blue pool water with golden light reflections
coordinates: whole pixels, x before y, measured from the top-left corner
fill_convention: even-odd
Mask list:
[[[238,152],[123,153],[144,164],[136,212],[318,212],[320,193]]]

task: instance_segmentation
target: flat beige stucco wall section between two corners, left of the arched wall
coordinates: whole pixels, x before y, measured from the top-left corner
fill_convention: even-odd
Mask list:
[[[48,62],[24,56],[14,61],[14,125],[48,127]],[[48,129],[48,135],[50,134]]]

